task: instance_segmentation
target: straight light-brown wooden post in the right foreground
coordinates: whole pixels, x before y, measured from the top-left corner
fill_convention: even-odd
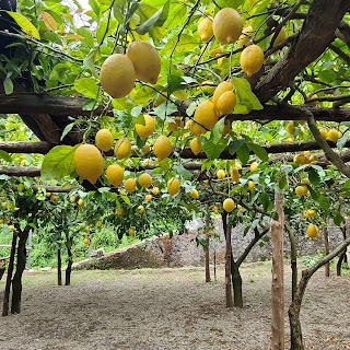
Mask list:
[[[284,284],[283,284],[283,197],[282,192],[275,196],[275,209],[278,221],[271,220],[272,243],[272,319],[271,350],[284,350]]]

